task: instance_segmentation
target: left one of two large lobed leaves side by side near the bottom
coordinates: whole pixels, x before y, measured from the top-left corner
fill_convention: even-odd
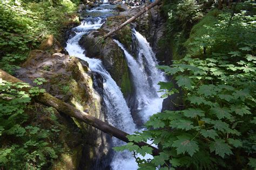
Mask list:
[[[177,154],[185,154],[186,152],[192,157],[194,153],[199,151],[199,147],[196,141],[190,140],[190,138],[181,135],[177,137],[178,140],[174,141],[172,147],[176,147]]]

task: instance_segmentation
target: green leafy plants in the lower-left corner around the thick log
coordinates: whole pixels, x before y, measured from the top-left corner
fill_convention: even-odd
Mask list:
[[[42,81],[38,78],[34,82]],[[37,87],[35,92],[34,87],[27,93],[23,91],[26,87],[29,85],[4,80],[0,84],[0,166],[4,169],[41,169],[58,157],[59,146],[51,141],[53,134],[40,125],[29,124],[31,97],[42,89]]]

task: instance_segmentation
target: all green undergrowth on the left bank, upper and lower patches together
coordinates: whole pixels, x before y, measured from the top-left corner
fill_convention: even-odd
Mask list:
[[[79,1],[1,1],[0,69],[19,67],[48,36],[62,40],[61,32],[78,22]],[[2,75],[1,75],[2,76]],[[34,80],[42,85],[44,79]],[[35,103],[44,89],[0,79],[0,169],[49,169],[63,153],[62,125],[56,110]],[[68,91],[63,87],[63,91]]]

